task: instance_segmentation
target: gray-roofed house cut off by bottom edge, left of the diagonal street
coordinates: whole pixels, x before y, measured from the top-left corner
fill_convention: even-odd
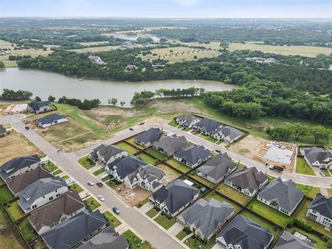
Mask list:
[[[126,238],[109,225],[78,249],[129,249],[129,244]]]

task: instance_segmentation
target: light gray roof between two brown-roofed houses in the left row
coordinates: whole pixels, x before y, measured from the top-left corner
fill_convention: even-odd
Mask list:
[[[35,183],[28,185],[28,187],[19,193],[18,203],[25,210],[29,208],[36,199],[58,190],[60,187],[65,187],[66,185],[66,181],[59,176],[39,179],[35,181]]]

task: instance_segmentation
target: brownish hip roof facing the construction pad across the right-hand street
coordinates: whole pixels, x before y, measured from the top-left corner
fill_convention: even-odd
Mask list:
[[[259,188],[261,183],[264,183],[268,177],[263,173],[259,172],[255,167],[241,167],[237,169],[234,174],[228,176],[227,181],[235,183],[236,185],[246,188],[253,192]]]

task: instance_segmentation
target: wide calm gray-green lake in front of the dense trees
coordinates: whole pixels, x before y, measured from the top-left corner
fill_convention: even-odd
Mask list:
[[[56,99],[66,95],[67,98],[91,100],[98,98],[102,104],[116,98],[125,101],[125,107],[135,92],[156,89],[186,89],[191,86],[203,87],[207,91],[223,91],[236,86],[211,80],[153,80],[147,82],[120,82],[115,80],[84,79],[68,77],[58,73],[33,69],[6,68],[0,71],[0,93],[2,89],[25,90],[47,100],[49,95]]]

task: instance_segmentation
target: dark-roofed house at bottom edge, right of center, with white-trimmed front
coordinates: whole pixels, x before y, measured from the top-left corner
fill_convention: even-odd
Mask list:
[[[261,225],[242,216],[235,216],[216,236],[216,242],[225,249],[266,249],[273,234]]]

